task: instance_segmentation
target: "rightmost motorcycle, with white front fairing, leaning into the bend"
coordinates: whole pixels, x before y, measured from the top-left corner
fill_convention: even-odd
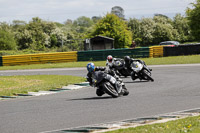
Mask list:
[[[151,69],[149,69],[146,65],[142,64],[139,61],[133,61],[131,63],[131,78],[132,80],[136,80],[139,78],[140,80],[154,81],[151,77]]]

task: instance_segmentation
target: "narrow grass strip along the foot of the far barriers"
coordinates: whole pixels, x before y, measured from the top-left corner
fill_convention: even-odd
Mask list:
[[[140,59],[144,60],[147,65],[200,63],[200,55],[171,56],[171,57],[162,57],[162,58],[140,58]],[[3,67],[0,67],[0,70],[86,67],[88,62],[91,62],[91,61],[55,63],[55,64],[35,64],[35,65],[22,65],[22,66],[3,66]],[[92,61],[92,62],[96,66],[105,66],[106,64],[106,61]]]

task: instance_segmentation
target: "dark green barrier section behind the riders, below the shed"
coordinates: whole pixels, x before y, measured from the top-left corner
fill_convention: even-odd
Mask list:
[[[109,49],[109,50],[93,50],[80,51],[77,53],[78,61],[103,61],[108,55],[116,58],[123,58],[129,55],[132,58],[149,57],[149,47],[135,49]]]

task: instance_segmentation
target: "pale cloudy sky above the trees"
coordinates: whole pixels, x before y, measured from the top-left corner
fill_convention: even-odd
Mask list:
[[[33,17],[64,23],[78,17],[105,16],[114,6],[124,9],[126,19],[164,14],[184,14],[196,0],[0,0],[0,22],[29,22]]]

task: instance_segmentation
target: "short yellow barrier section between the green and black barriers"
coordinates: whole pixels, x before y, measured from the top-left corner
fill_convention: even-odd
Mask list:
[[[149,57],[163,57],[163,46],[152,46],[149,48]]]

